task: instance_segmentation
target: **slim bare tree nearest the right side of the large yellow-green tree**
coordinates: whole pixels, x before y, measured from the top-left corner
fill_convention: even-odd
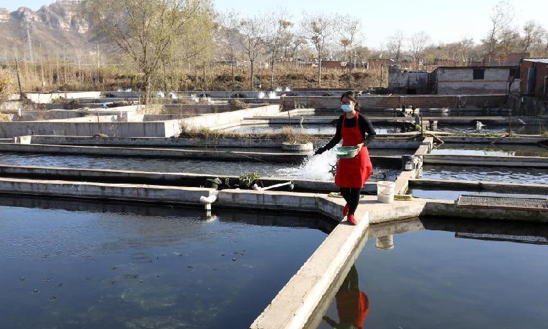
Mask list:
[[[236,75],[234,66],[238,64],[239,46],[241,45],[240,18],[236,12],[227,12],[221,15],[221,42],[225,44],[225,57],[230,62],[230,71],[232,72],[232,90],[236,90]]]

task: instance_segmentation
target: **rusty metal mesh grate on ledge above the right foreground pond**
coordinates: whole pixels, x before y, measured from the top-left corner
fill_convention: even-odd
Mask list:
[[[457,206],[462,208],[499,208],[508,210],[548,212],[548,199],[460,195],[458,197]]]

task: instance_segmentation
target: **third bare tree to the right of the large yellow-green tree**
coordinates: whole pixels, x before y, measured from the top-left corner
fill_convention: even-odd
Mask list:
[[[274,88],[274,65],[282,47],[288,44],[292,38],[290,27],[293,23],[289,21],[289,13],[283,8],[277,8],[272,11],[273,14],[268,19],[268,38],[266,47],[270,53],[270,88]]]

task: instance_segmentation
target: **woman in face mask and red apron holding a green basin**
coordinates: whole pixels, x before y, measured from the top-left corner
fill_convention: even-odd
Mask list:
[[[332,149],[341,139],[343,146],[358,147],[358,154],[353,158],[338,160],[335,174],[335,184],[340,188],[340,194],[347,202],[343,209],[343,215],[347,216],[349,223],[356,225],[354,212],[360,202],[360,192],[373,172],[367,145],[375,139],[377,133],[373,129],[371,121],[364,114],[358,112],[360,103],[352,91],[347,91],[340,97],[340,104],[340,109],[345,113],[338,120],[335,136],[325,146],[320,147],[316,154],[322,154],[328,149]]]

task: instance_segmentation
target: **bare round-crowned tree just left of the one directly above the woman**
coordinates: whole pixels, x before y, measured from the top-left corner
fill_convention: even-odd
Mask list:
[[[304,14],[301,21],[303,36],[309,40],[318,55],[318,86],[321,87],[321,58],[325,56],[325,45],[333,35],[334,19],[325,14]]]

